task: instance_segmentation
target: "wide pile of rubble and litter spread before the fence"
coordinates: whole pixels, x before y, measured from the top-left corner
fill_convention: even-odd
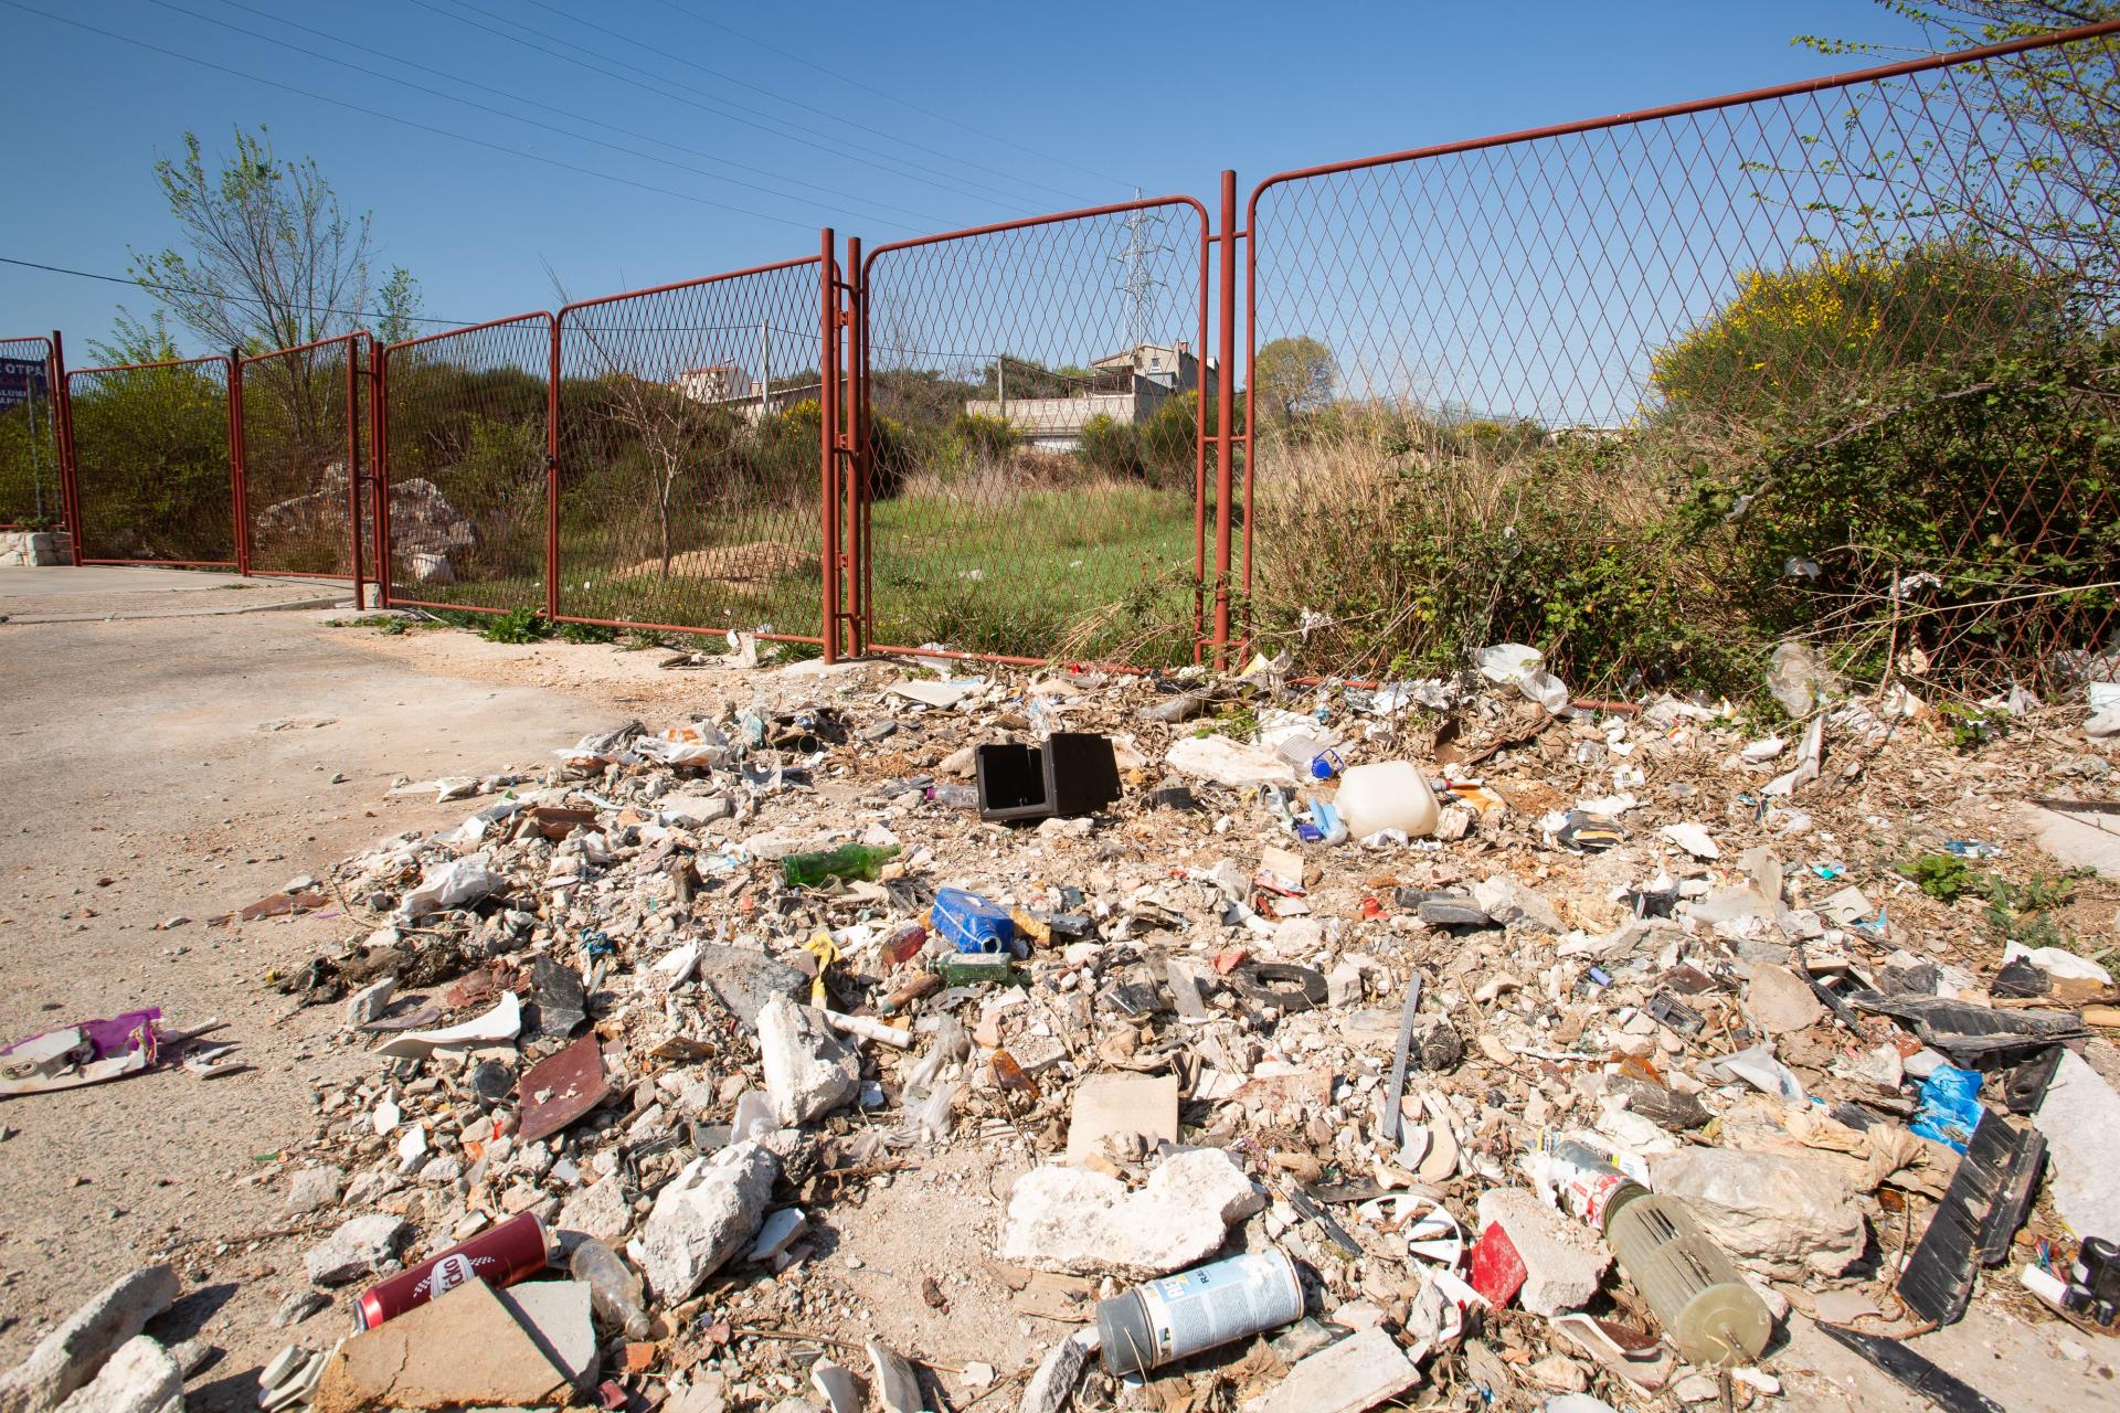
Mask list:
[[[263,1407],[1747,1407],[1791,1309],[1916,1383],[1976,1290],[2109,1328],[2120,892],[1980,886],[2112,744],[1908,691],[1760,739],[1526,652],[731,667],[403,784],[473,813],[307,881],[367,924],[282,987],[373,1070],[280,1169],[329,1235]],[[903,1241],[1005,1303],[907,1282],[975,1318],[893,1349],[835,1229],[952,1155],[992,1197]]]

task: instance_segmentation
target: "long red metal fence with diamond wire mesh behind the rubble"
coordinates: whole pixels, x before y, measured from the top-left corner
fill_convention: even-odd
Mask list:
[[[2120,623],[2116,34],[85,371],[68,519],[827,655],[2006,676]]]

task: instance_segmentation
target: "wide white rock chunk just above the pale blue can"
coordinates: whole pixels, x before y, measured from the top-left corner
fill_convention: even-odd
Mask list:
[[[1001,1260],[1071,1275],[1147,1280],[1213,1256],[1266,1199],[1219,1148],[1172,1155],[1138,1193],[1100,1171],[1032,1167],[1015,1180]]]

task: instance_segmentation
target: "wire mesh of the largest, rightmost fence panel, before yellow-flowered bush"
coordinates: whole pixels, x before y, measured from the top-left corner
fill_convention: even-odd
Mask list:
[[[2114,44],[1264,182],[1259,629],[1327,669],[1535,642],[1577,684],[1779,633],[1967,680],[2103,642]]]

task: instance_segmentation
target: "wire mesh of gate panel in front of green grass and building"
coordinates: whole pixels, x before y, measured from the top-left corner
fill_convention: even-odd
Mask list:
[[[873,642],[1194,657],[1204,242],[1160,199],[869,256]]]

